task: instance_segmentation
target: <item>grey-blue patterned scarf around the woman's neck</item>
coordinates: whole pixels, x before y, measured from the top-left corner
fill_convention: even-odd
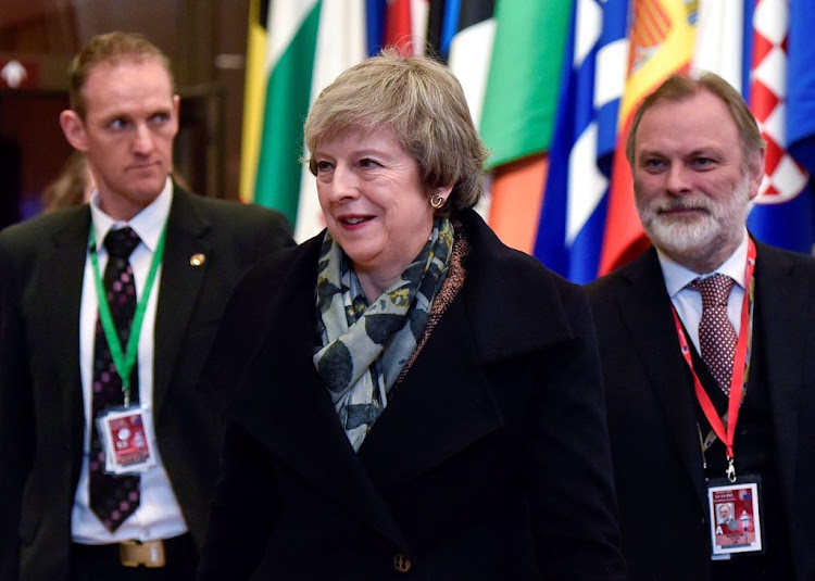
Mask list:
[[[314,365],[355,451],[388,404],[388,392],[427,326],[447,275],[453,226],[437,218],[422,252],[371,305],[342,249],[326,232],[317,263]]]

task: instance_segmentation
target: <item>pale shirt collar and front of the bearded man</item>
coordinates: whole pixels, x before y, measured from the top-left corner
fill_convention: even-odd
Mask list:
[[[747,281],[744,280],[747,250],[748,233],[745,229],[744,237],[734,253],[718,268],[703,275],[677,264],[662,252],[656,251],[668,296],[670,296],[670,302],[674,304],[679,319],[685,325],[689,339],[697,348],[697,353],[701,353],[699,346],[699,321],[702,319],[702,294],[686,287],[697,278],[707,278],[716,273],[732,278],[736,283],[730,291],[730,298],[727,302],[727,318],[730,319],[732,328],[736,329],[736,334],[738,336],[741,329],[741,304],[744,299],[744,289],[747,288]]]

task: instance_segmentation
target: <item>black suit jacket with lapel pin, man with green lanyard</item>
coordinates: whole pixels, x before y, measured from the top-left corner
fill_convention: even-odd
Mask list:
[[[45,215],[0,233],[0,579],[66,574],[85,429],[79,303],[90,211]],[[196,389],[240,276],[292,245],[276,212],[175,188],[155,320],[158,445],[193,539],[202,542],[222,430]],[[190,256],[205,255],[201,266]]]

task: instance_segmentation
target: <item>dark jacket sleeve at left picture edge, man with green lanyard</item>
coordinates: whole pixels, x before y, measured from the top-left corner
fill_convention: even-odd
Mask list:
[[[0,237],[0,579],[18,578],[20,507],[30,470],[34,415],[20,317],[18,273]]]

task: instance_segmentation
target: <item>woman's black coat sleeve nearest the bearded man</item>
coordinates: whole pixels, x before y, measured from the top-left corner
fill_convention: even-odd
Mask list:
[[[623,580],[594,327],[581,290],[566,286],[561,299],[574,337],[534,364],[528,418],[536,551],[547,579]]]

